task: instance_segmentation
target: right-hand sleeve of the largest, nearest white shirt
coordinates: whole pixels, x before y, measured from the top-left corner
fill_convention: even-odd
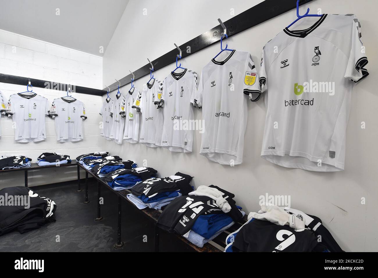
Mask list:
[[[350,54],[347,68],[345,70],[345,78],[358,82],[369,75],[366,68],[367,57],[365,48],[361,40],[361,24],[356,17],[351,20],[352,34],[350,37]]]

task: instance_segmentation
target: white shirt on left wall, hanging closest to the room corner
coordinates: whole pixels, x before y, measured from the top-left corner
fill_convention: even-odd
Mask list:
[[[56,140],[73,142],[83,140],[84,103],[78,99],[56,98],[51,105],[49,117],[55,118]]]

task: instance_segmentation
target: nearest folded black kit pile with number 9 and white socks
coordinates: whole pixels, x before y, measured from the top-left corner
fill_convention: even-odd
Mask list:
[[[266,204],[249,213],[226,245],[225,252],[344,252],[319,217]]]

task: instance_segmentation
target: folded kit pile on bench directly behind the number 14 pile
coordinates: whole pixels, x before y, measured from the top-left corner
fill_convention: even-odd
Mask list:
[[[193,191],[190,185],[193,177],[180,172],[165,178],[150,178],[131,188],[127,199],[130,200],[139,210],[143,208],[154,208],[160,210],[172,200]]]

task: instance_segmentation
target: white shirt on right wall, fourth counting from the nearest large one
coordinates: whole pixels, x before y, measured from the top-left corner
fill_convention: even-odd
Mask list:
[[[164,115],[161,109],[156,109],[161,99],[163,91],[163,82],[152,79],[152,83],[147,83],[147,90],[139,93],[135,99],[132,108],[140,111],[141,115],[141,134],[139,143],[146,144],[149,147],[160,147],[161,132],[163,130]],[[156,104],[156,106],[155,106]]]

